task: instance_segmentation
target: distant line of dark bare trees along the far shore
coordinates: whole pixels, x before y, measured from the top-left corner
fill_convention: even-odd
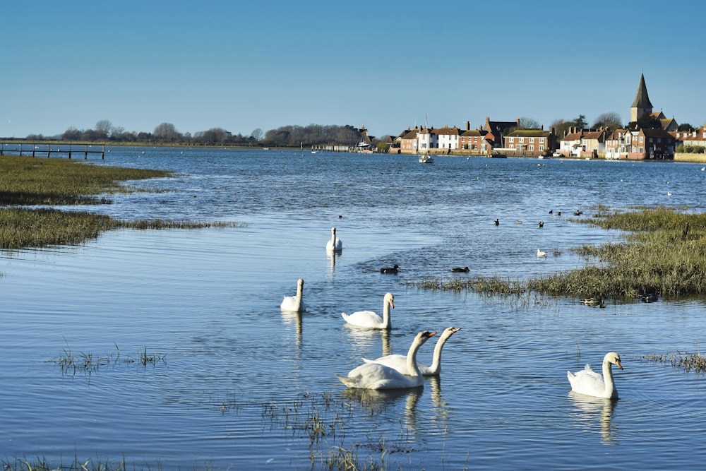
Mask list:
[[[222,128],[212,128],[196,133],[180,133],[171,123],[162,123],[150,132],[125,131],[113,126],[107,119],[98,121],[95,129],[66,129],[59,136],[30,134],[25,141],[71,141],[167,145],[262,145],[273,147],[299,147],[300,145],[355,145],[361,141],[361,131],[354,126],[282,126],[263,133],[256,129],[249,136],[234,134]]]

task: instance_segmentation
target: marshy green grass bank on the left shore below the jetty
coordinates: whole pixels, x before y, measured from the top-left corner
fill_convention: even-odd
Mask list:
[[[101,232],[121,227],[174,229],[215,225],[164,220],[122,221],[88,212],[26,208],[27,205],[110,203],[102,195],[129,191],[124,186],[125,181],[170,176],[170,172],[159,170],[4,155],[0,157],[0,249],[79,244],[98,237]]]

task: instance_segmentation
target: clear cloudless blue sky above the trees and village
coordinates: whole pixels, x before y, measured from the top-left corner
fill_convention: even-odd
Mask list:
[[[8,1],[0,136],[167,122],[477,128],[654,110],[706,122],[706,2]]]

